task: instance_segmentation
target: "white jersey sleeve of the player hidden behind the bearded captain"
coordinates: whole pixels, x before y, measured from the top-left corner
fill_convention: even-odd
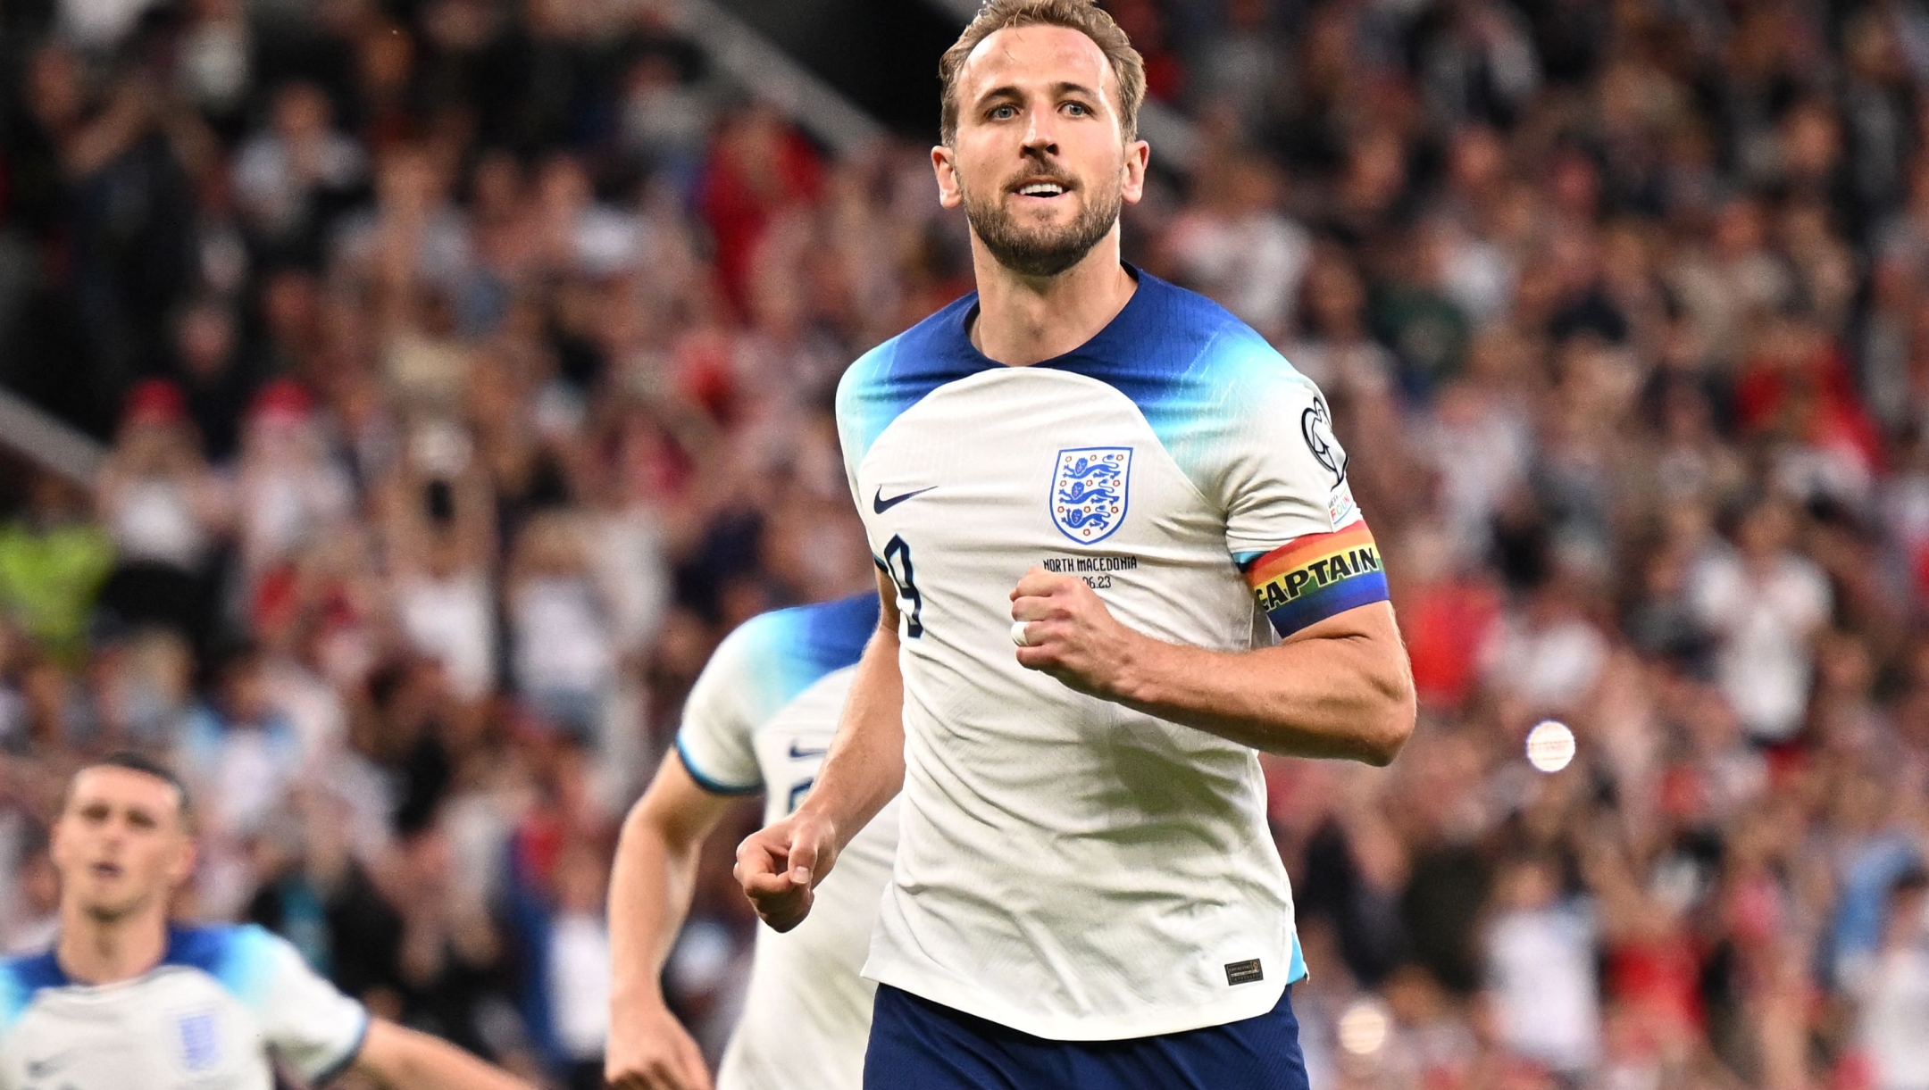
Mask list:
[[[758,671],[762,631],[756,619],[731,633],[696,675],[677,727],[677,756],[691,779],[712,795],[764,789],[750,745],[766,677]]]

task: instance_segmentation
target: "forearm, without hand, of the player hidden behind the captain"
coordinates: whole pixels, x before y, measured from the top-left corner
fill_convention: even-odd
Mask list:
[[[679,845],[640,803],[623,822],[610,874],[611,999],[660,1003],[664,961],[691,911],[696,845]]]

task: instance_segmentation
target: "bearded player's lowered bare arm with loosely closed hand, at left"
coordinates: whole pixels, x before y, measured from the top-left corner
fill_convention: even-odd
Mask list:
[[[905,679],[897,669],[897,588],[878,575],[883,610],[858,658],[837,737],[818,781],[789,818],[737,847],[737,882],[779,932],[810,913],[812,889],[905,785]]]

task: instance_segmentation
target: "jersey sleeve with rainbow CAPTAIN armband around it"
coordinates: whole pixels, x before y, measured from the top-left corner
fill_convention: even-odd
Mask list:
[[[1248,399],[1221,488],[1225,540],[1281,637],[1387,600],[1387,577],[1346,482],[1333,413],[1306,378],[1281,368]]]

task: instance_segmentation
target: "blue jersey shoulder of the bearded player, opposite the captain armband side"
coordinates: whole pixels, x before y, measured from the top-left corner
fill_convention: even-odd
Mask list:
[[[964,338],[964,316],[976,305],[976,293],[964,295],[845,368],[837,382],[837,428],[847,459],[870,450],[891,421],[932,390],[984,370],[984,359]]]

